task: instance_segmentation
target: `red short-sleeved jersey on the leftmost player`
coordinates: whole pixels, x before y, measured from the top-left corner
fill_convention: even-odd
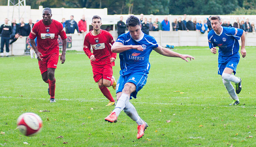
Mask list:
[[[35,23],[29,38],[35,39],[37,37],[37,49],[45,57],[54,53],[59,54],[59,43],[57,41],[59,35],[62,40],[66,39],[66,32],[60,22],[52,19],[50,25],[44,25],[40,20]]]

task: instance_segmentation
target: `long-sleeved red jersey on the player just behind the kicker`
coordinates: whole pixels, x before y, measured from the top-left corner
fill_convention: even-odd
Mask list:
[[[86,34],[85,41],[83,42],[83,51],[85,51],[85,54],[89,58],[91,55],[94,55],[96,58],[95,61],[91,60],[92,67],[103,67],[110,63],[110,58],[116,58],[116,53],[112,53],[111,51],[111,46],[114,42],[113,36],[102,29],[100,29],[100,33],[96,36],[92,35],[92,31]],[[93,54],[91,52],[91,46]]]

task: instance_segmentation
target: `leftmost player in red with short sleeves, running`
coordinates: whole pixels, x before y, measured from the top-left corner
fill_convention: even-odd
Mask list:
[[[65,62],[66,54],[66,33],[60,22],[51,19],[52,11],[50,8],[44,8],[43,19],[35,23],[29,38],[31,46],[37,54],[39,69],[42,79],[49,84],[48,93],[50,94],[50,103],[55,101],[55,69],[59,59],[58,36],[62,39],[61,63]],[[37,47],[35,46],[35,37],[37,37]],[[50,91],[50,92],[49,92]]]

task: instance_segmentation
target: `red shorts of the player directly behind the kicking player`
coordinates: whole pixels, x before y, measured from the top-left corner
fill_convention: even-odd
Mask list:
[[[113,75],[112,64],[106,64],[104,67],[92,67],[93,79],[98,82],[101,78],[111,80]]]

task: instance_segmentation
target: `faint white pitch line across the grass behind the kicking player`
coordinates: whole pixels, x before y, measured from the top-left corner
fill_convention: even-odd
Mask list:
[[[29,100],[49,100],[49,98],[28,98],[28,97],[5,97],[0,96],[0,98],[18,98],[18,99],[29,99]],[[175,97],[176,98],[176,97]],[[62,101],[80,101],[80,102],[106,102],[106,98],[99,98],[100,100],[86,100],[85,98],[75,98],[75,99],[68,99],[68,98],[57,98],[57,100]],[[151,104],[151,105],[181,105],[181,104],[174,104],[174,103],[148,103],[148,102],[133,102],[134,104]],[[232,107],[227,105],[212,105],[212,104],[182,104],[184,106],[204,106],[204,107]],[[242,108],[256,108],[256,106],[245,106],[245,105],[238,105],[235,107],[242,107]]]

